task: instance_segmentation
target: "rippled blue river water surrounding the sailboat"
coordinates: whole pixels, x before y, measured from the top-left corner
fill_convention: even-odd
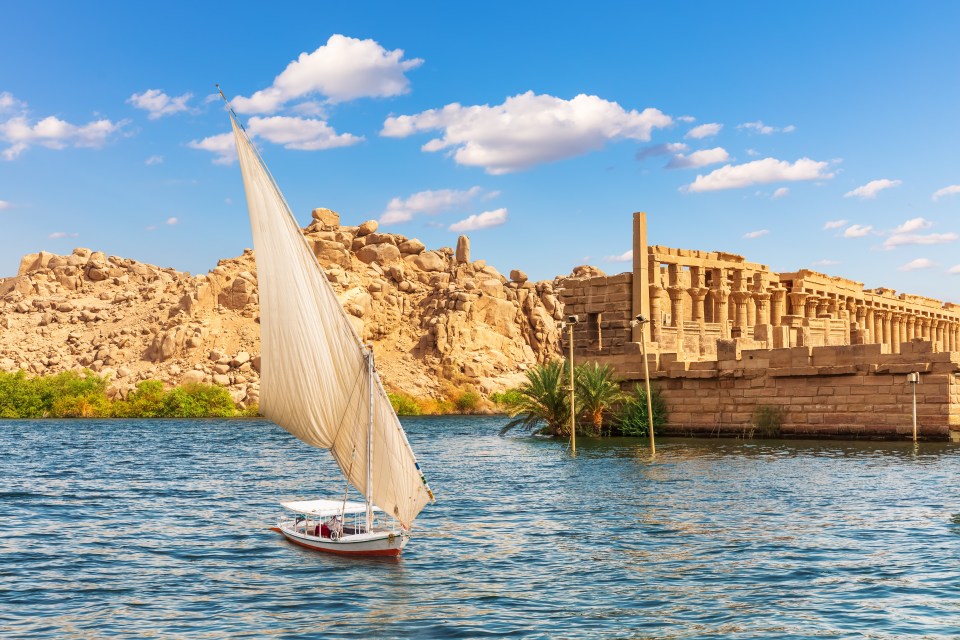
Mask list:
[[[357,560],[268,529],[343,489],[269,422],[0,422],[0,635],[960,636],[958,445],[404,424],[438,502]]]

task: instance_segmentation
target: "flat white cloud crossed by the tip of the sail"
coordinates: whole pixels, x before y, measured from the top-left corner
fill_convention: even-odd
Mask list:
[[[262,138],[282,145],[284,149],[320,151],[347,147],[363,140],[362,136],[350,133],[338,134],[323,120],[296,118],[292,116],[254,116],[247,123],[250,139]],[[202,140],[187,143],[191,149],[200,149],[217,154],[214,164],[230,164],[237,159],[237,150],[232,133],[221,133]]]

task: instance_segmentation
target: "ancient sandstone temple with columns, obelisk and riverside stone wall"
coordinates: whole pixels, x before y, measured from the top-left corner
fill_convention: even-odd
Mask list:
[[[580,361],[636,381],[646,341],[673,432],[743,433],[770,407],[785,434],[900,437],[912,432],[906,374],[919,372],[921,435],[960,436],[960,305],[651,246],[643,213],[632,272],[560,284]],[[631,326],[637,315],[650,321]]]

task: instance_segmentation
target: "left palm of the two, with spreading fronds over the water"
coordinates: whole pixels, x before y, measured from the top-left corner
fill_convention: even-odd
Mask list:
[[[500,434],[520,426],[533,431],[546,423],[545,431],[551,436],[564,435],[570,423],[565,371],[566,365],[558,361],[539,364],[527,371],[527,381],[517,388],[518,397],[508,406],[514,420],[508,422]]]

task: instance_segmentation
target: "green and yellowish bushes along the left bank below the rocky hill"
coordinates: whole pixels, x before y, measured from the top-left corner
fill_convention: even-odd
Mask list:
[[[0,418],[232,418],[256,416],[239,408],[226,389],[188,383],[172,389],[144,380],[126,395],[110,397],[109,380],[90,371],[29,378],[0,372]]]

